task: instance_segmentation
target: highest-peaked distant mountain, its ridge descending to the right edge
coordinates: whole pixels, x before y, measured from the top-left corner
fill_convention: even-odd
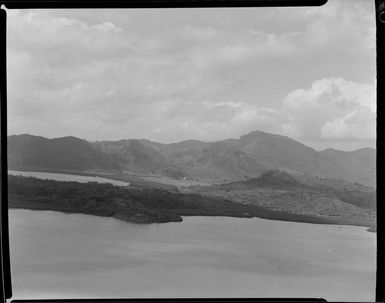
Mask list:
[[[268,168],[282,168],[328,178],[346,179],[369,186],[376,184],[376,151],[316,150],[285,136],[260,131],[242,136],[237,146]]]

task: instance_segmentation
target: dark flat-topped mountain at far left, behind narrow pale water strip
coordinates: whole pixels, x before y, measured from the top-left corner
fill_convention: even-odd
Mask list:
[[[117,170],[119,164],[86,140],[47,139],[31,135],[8,137],[9,169]]]

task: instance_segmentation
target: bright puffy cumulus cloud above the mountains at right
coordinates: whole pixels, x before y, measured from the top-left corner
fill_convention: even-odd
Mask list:
[[[315,81],[309,89],[289,93],[282,106],[289,122],[284,131],[304,140],[375,138],[375,83],[341,78]]]

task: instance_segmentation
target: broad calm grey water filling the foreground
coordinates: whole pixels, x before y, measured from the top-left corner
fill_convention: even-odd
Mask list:
[[[324,297],[372,301],[375,234],[222,217],[136,225],[10,210],[15,298]]]

